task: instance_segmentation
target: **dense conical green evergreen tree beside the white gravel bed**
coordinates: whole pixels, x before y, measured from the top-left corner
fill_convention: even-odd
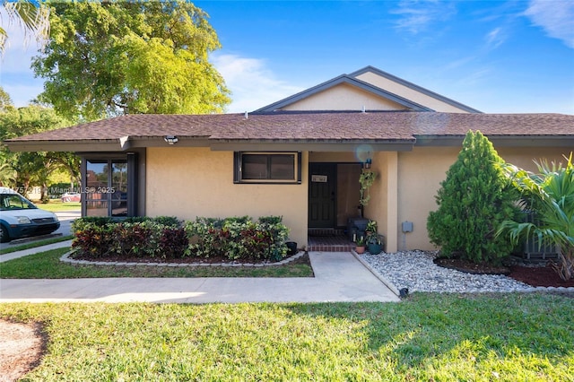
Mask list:
[[[429,214],[431,242],[444,256],[474,263],[499,263],[509,256],[509,240],[496,237],[500,223],[517,213],[517,194],[498,166],[503,163],[492,143],[469,131],[457,161],[448,169],[436,196],[439,209]]]

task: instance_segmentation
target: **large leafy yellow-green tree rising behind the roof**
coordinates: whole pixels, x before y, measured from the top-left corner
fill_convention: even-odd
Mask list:
[[[222,112],[230,103],[208,61],[220,48],[207,14],[184,1],[55,3],[34,57],[40,100],[66,117]]]

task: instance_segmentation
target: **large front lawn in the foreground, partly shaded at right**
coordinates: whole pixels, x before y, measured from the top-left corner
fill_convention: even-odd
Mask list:
[[[48,337],[25,380],[571,381],[574,304],[542,294],[401,303],[0,304]]]

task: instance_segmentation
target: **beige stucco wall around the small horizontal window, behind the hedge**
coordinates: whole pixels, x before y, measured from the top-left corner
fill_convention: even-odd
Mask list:
[[[282,215],[290,239],[307,246],[308,154],[302,155],[300,185],[233,183],[233,152],[208,148],[148,148],[146,214],[230,217]]]

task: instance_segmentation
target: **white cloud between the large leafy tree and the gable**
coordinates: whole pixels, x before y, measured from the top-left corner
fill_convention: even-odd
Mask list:
[[[263,108],[289,97],[303,88],[278,80],[258,58],[237,55],[213,55],[212,62],[230,89],[230,113],[241,113]]]

